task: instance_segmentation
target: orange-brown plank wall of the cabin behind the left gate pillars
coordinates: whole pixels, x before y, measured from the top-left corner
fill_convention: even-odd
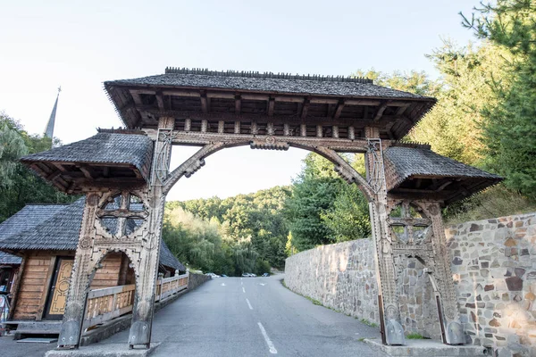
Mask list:
[[[24,256],[21,265],[18,291],[13,296],[12,320],[41,320],[46,308],[46,298],[54,277],[57,257],[72,257],[74,252],[32,251]],[[123,253],[110,253],[96,270],[91,289],[132,284],[134,271]]]

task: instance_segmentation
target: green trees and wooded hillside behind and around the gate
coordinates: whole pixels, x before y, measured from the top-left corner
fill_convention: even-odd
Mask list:
[[[498,0],[460,19],[478,41],[458,46],[445,40],[427,54],[439,78],[421,71],[353,75],[436,97],[405,140],[429,143],[439,154],[505,178],[448,206],[447,224],[536,211],[536,7],[531,0]],[[26,203],[72,201],[17,161],[50,145],[0,115],[0,222]],[[364,172],[362,155],[345,159]],[[169,202],[163,223],[163,239],[181,262],[230,276],[282,269],[290,254],[369,235],[364,196],[316,154],[306,157],[289,187]]]

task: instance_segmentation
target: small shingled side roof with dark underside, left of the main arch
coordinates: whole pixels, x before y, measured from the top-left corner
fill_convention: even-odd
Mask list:
[[[143,134],[99,132],[85,140],[24,156],[21,162],[65,192],[76,191],[81,182],[94,179],[148,181],[152,154],[153,141]]]

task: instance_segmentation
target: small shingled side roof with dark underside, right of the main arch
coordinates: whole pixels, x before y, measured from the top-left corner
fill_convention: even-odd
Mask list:
[[[384,158],[389,192],[429,191],[441,196],[445,203],[463,199],[502,180],[498,175],[456,162],[423,146],[391,146],[384,151]]]

